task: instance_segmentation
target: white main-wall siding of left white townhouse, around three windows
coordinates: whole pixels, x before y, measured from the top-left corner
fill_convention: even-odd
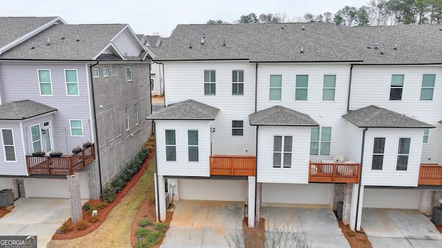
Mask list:
[[[204,96],[204,70],[216,72],[216,95]],[[232,95],[232,70],[244,70],[244,95]],[[255,155],[255,65],[249,62],[164,62],[166,105],[193,99],[220,112],[213,122],[214,155]],[[231,121],[244,121],[244,136],[232,136]]]

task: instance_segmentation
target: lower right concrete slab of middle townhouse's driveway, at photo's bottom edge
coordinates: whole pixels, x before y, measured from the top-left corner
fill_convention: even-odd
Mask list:
[[[344,234],[305,234],[305,240],[310,248],[350,248]]]

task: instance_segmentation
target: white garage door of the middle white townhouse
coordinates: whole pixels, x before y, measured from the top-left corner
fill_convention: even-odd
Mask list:
[[[333,189],[332,183],[263,183],[262,203],[330,205]]]

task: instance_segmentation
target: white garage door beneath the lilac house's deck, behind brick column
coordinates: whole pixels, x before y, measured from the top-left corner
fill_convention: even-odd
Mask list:
[[[89,198],[88,177],[79,172],[81,198]],[[26,197],[69,198],[68,180],[52,178],[27,178],[24,180]]]

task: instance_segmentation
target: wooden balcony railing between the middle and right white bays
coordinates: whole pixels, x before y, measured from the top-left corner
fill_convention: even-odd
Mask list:
[[[360,163],[316,163],[309,165],[310,183],[359,183]]]

